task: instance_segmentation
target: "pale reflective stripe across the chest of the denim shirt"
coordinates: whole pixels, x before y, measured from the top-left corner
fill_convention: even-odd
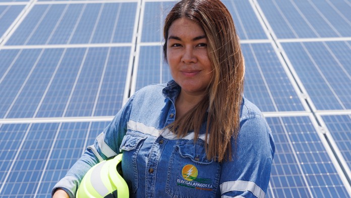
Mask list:
[[[127,128],[133,131],[139,131],[144,134],[149,134],[154,137],[158,137],[160,134],[167,139],[178,139],[177,135],[172,133],[169,129],[159,130],[152,126],[146,126],[141,122],[135,122],[133,120],[129,120],[127,124]],[[205,134],[199,135],[199,138],[205,141]],[[182,139],[192,140],[194,139],[194,132],[188,133],[186,136],[182,137]]]

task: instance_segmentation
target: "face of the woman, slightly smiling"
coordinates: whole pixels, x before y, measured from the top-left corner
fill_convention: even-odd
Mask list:
[[[202,95],[211,82],[207,38],[200,25],[187,18],[175,20],[168,30],[167,60],[172,77],[182,91]]]

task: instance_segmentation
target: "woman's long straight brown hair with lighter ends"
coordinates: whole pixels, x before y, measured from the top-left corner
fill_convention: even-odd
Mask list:
[[[169,27],[173,21],[180,18],[193,20],[203,28],[208,40],[207,49],[213,67],[213,77],[202,101],[167,127],[179,137],[194,130],[195,141],[202,123],[207,120],[207,159],[216,159],[219,162],[224,159],[231,160],[231,140],[236,141],[240,127],[245,73],[244,58],[235,25],[229,11],[219,0],[180,1],[165,19],[165,60]]]

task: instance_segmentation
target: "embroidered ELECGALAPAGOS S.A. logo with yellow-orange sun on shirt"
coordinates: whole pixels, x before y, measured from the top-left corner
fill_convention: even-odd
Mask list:
[[[198,169],[191,164],[187,164],[182,169],[183,179],[177,179],[177,185],[199,190],[212,191],[212,180],[198,177]]]

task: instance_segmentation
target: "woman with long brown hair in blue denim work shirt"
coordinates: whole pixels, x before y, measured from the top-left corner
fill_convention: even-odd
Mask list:
[[[55,197],[74,196],[93,165],[121,152],[132,197],[264,197],[274,142],[243,97],[244,59],[228,10],[219,0],[181,1],[163,32],[174,80],[137,91]]]

